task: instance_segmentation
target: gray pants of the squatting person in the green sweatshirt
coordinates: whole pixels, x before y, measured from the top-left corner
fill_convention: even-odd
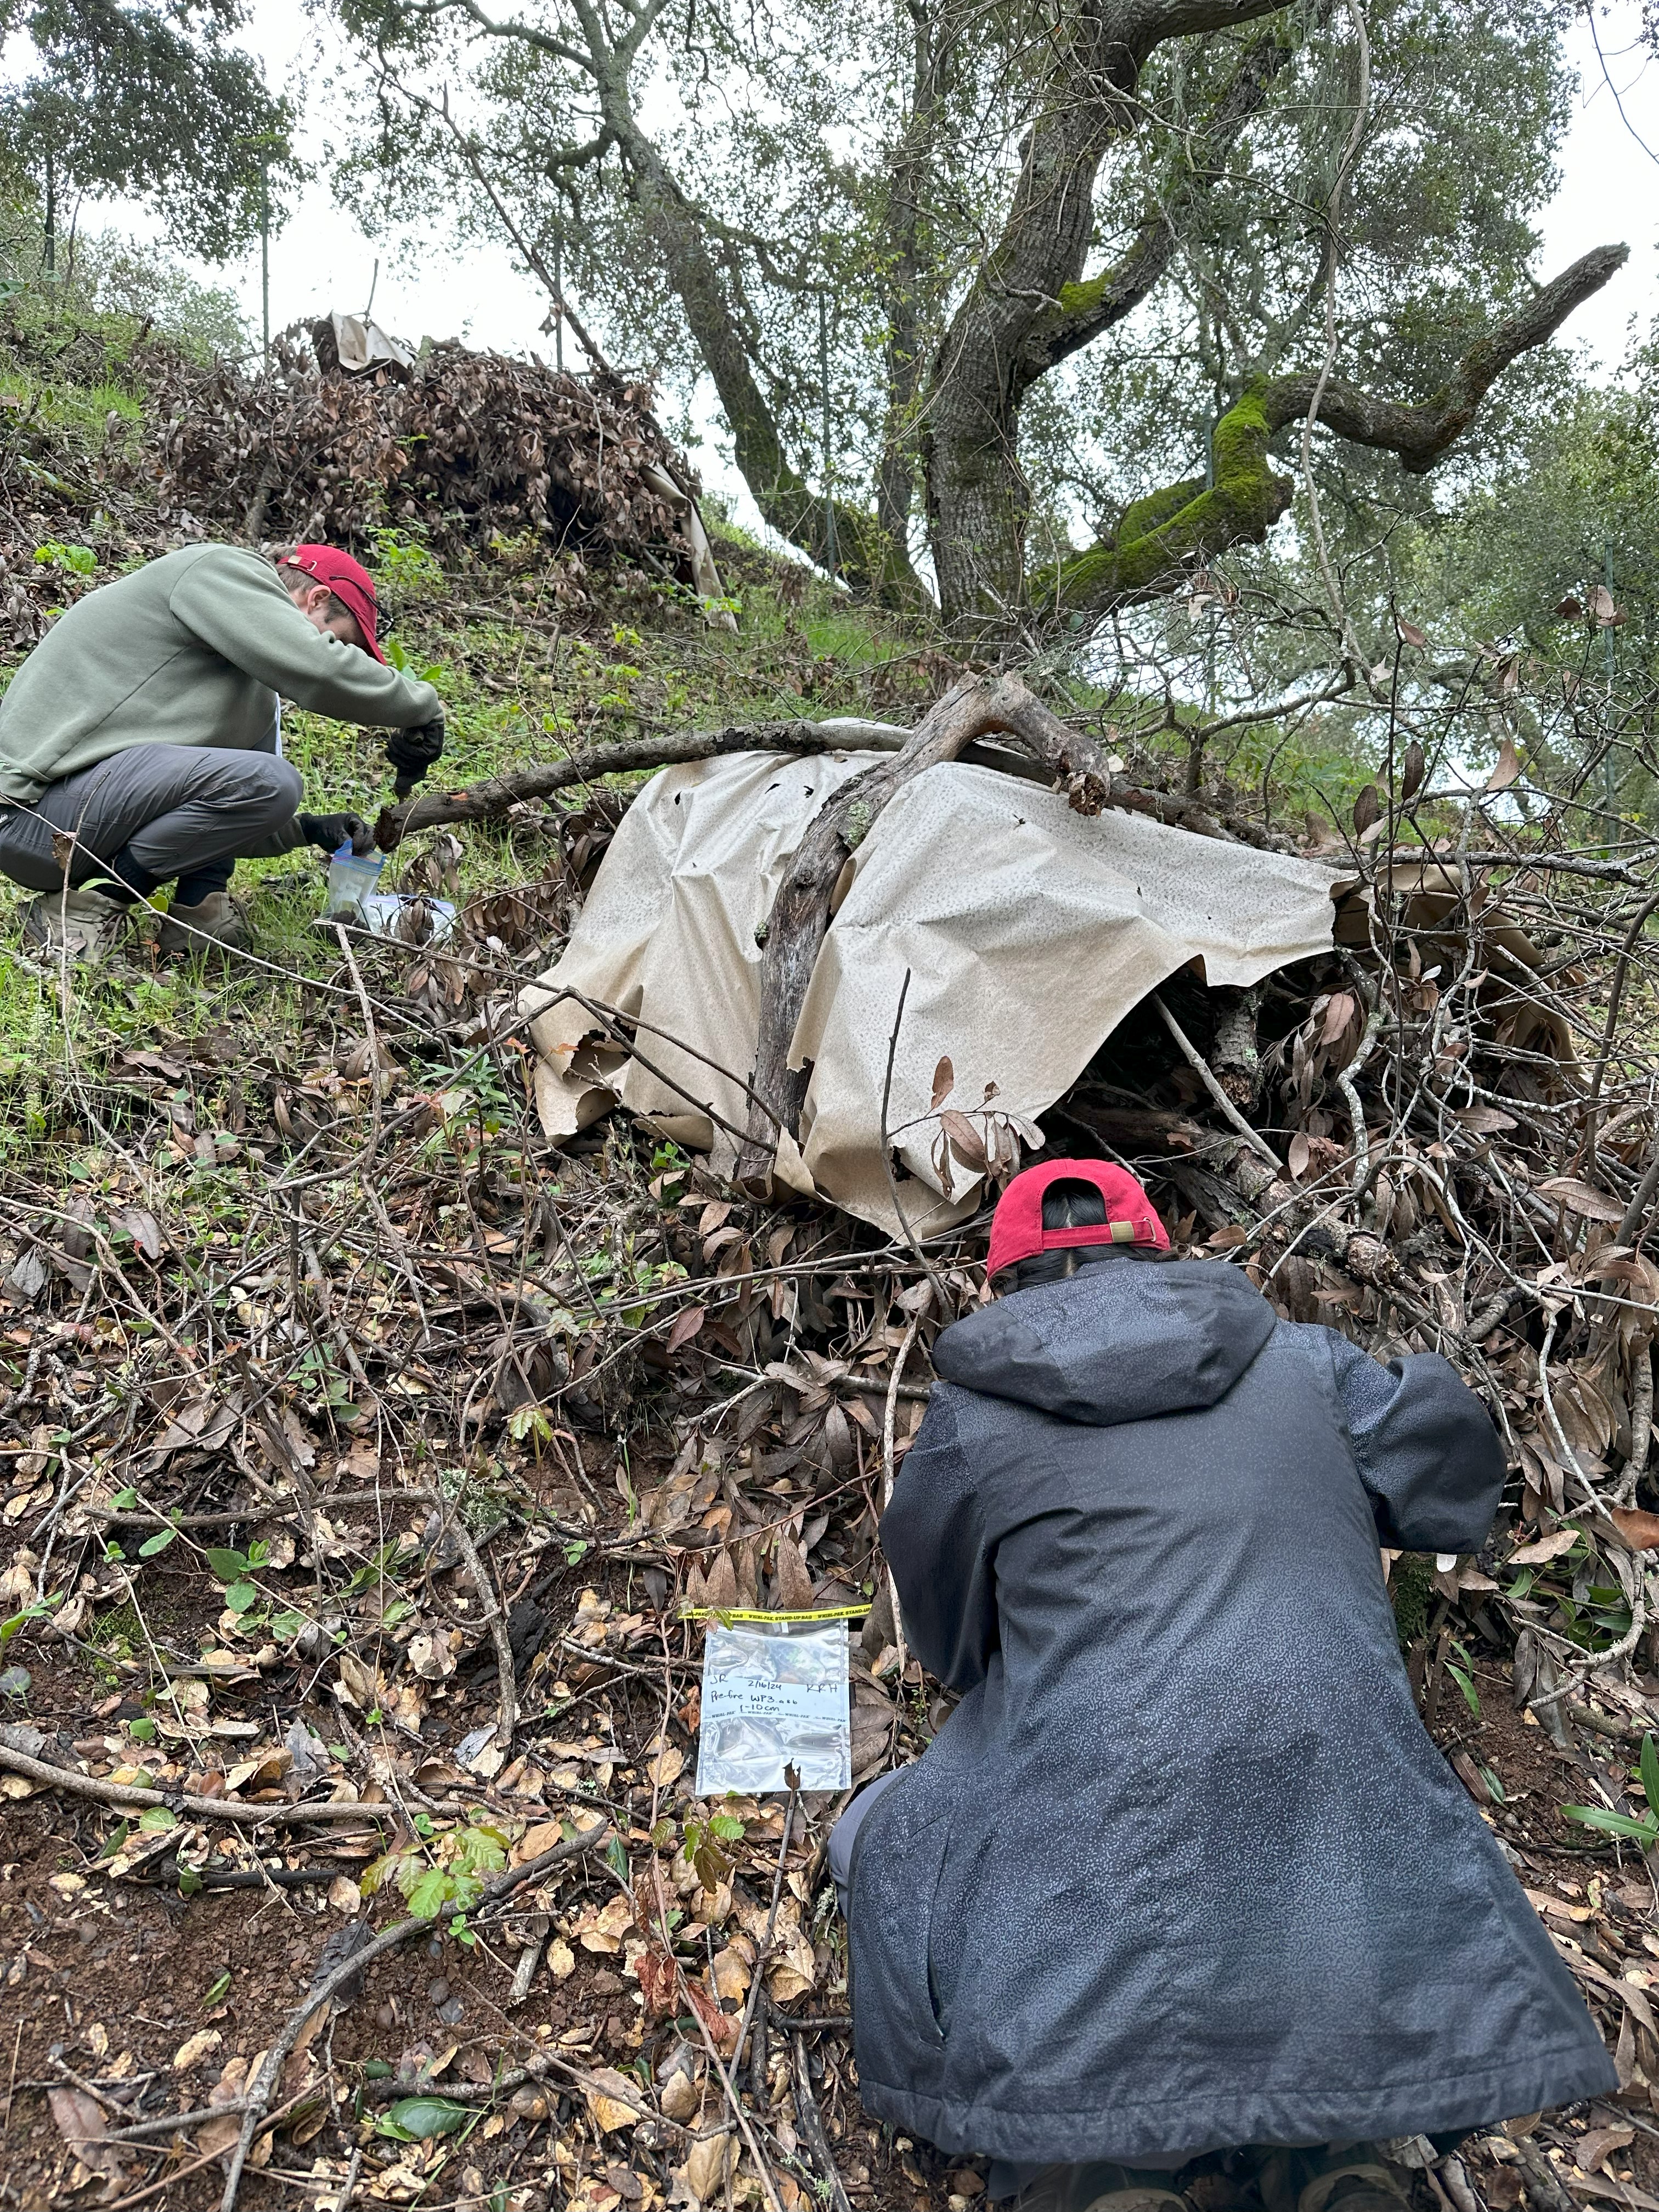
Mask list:
[[[69,832],[71,885],[115,872],[148,894],[177,876],[201,898],[230,883],[237,860],[301,843],[299,801],[299,770],[274,752],[128,745],[49,783],[33,807],[0,803],[0,874],[29,891],[58,891],[64,869],[53,832]]]

